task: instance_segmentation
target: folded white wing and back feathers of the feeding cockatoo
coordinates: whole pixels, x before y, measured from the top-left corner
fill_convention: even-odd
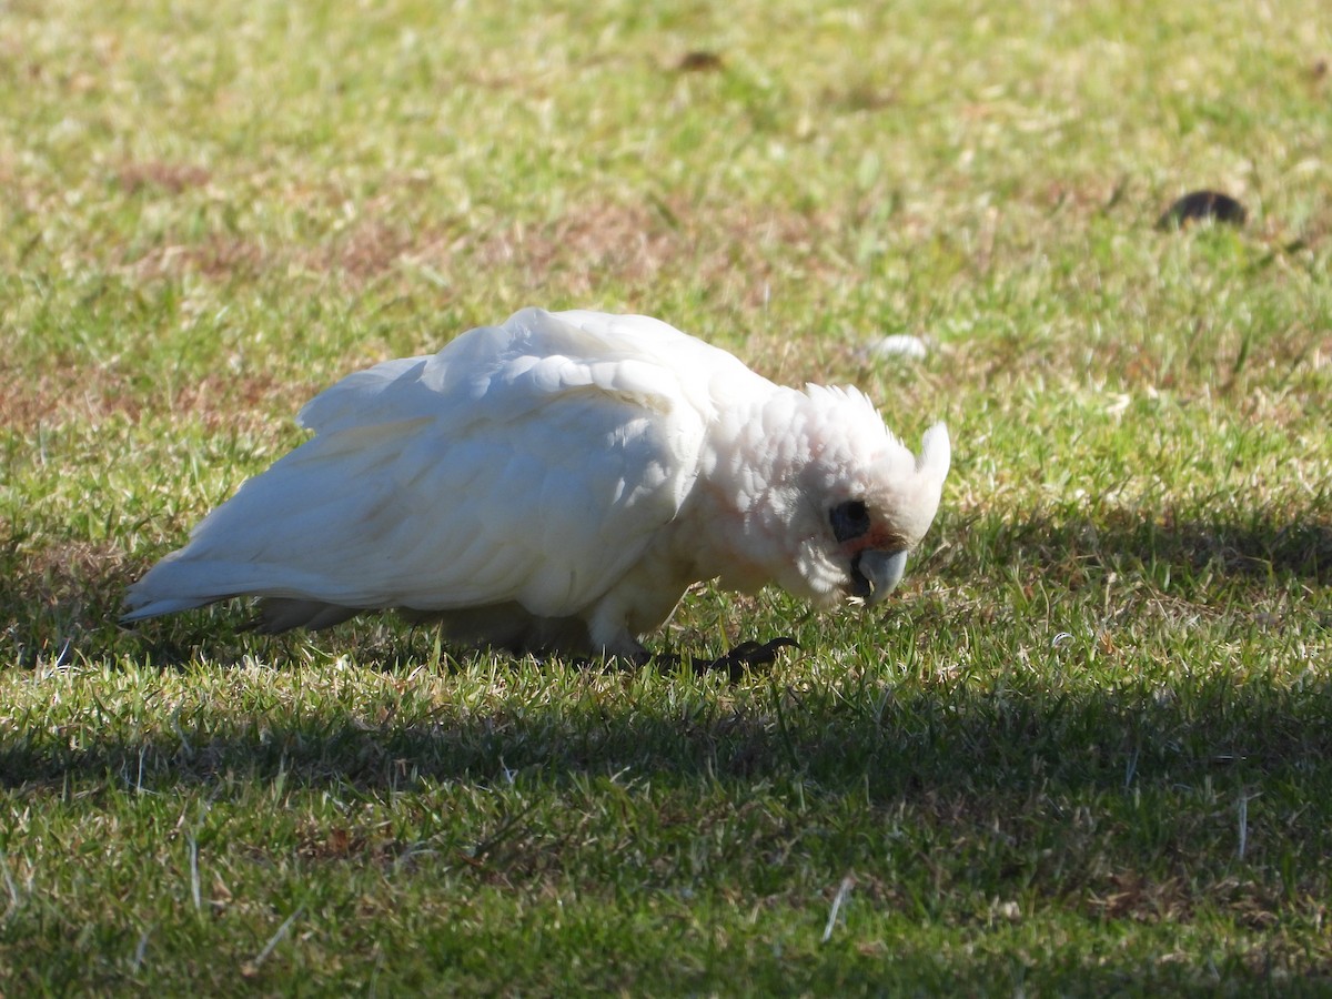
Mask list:
[[[533,309],[434,357],[352,374],[302,410],[316,437],[145,575],[127,618],[236,594],[573,614],[687,496],[705,361],[754,377],[655,320]]]

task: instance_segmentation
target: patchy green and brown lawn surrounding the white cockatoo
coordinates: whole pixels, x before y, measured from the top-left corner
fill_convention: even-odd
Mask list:
[[[5,991],[1332,988],[1323,7],[5,5]],[[803,646],[734,686],[117,627],[526,304],[947,418],[900,598],[703,589],[657,647]]]

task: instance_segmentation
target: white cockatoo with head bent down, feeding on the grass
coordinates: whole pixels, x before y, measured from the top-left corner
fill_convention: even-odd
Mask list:
[[[261,597],[266,631],[365,610],[515,651],[647,653],[695,582],[882,601],[939,506],[855,389],[782,388],[645,316],[525,309],[348,376],[314,437],[135,583],[125,621]]]

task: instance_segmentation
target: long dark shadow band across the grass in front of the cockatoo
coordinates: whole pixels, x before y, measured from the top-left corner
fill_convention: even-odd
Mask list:
[[[417,717],[396,714],[392,691],[358,703],[354,718],[338,705],[298,717],[253,709],[237,717],[210,705],[141,739],[108,731],[71,745],[59,731],[9,731],[0,738],[0,785],[111,781],[163,790],[236,775],[373,793],[627,773],[667,785],[799,778],[874,801],[1217,781],[1332,791],[1332,682],[1239,682],[1229,671],[1200,671],[1162,693],[1134,679],[1118,689],[1050,690],[1035,677],[1007,677],[986,690],[903,690],[844,678],[799,691],[757,686],[734,706],[723,706],[731,698],[718,683],[686,698],[661,690],[555,703],[514,698],[484,711],[446,703]]]

